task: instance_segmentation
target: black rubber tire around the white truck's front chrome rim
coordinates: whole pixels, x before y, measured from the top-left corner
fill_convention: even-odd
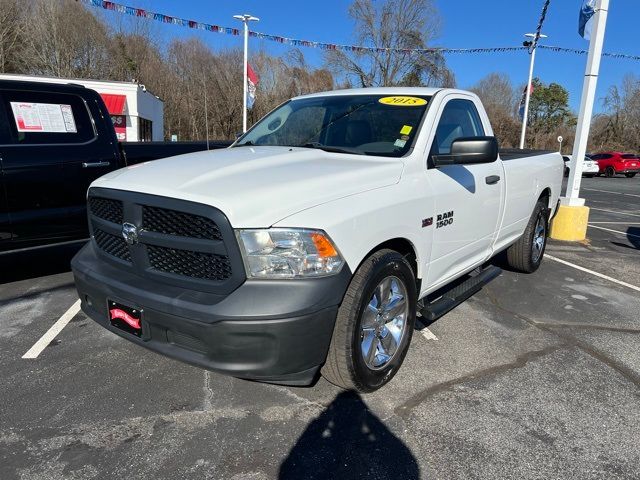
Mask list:
[[[362,353],[363,314],[378,285],[389,277],[402,282],[406,291],[408,313],[405,315],[404,328],[395,353],[382,368],[374,370],[367,366]],[[409,349],[415,326],[416,304],[415,275],[411,265],[401,254],[394,250],[380,250],[367,258],[353,275],[338,310],[322,376],[338,387],[358,392],[372,392],[389,382],[402,365]]]

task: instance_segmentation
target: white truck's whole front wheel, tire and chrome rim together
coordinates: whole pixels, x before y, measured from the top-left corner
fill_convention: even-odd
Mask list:
[[[413,269],[400,253],[380,250],[367,258],[338,310],[322,376],[358,392],[389,382],[409,349],[416,303]]]

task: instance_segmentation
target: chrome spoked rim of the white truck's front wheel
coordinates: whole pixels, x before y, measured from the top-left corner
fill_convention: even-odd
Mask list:
[[[398,277],[385,277],[362,314],[360,350],[368,368],[384,368],[398,352],[408,315],[406,287]]]

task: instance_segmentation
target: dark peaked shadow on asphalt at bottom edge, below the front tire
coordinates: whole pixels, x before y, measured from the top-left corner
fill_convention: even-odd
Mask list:
[[[418,479],[409,448],[354,392],[342,392],[300,436],[278,478]]]

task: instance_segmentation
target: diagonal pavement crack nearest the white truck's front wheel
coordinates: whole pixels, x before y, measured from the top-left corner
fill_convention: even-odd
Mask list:
[[[456,385],[468,382],[470,380],[477,380],[479,378],[488,377],[492,375],[496,375],[501,372],[513,370],[516,368],[522,368],[531,360],[535,360],[537,358],[543,357],[545,355],[549,355],[557,352],[563,348],[566,348],[566,344],[561,345],[553,345],[550,347],[543,348],[542,350],[533,350],[531,352],[527,352],[524,355],[517,357],[513,362],[504,363],[501,365],[496,365],[493,367],[485,368],[483,370],[477,370],[468,375],[463,375],[462,377],[457,377],[452,380],[448,380],[446,382],[438,383],[433,385],[426,390],[423,390],[413,397],[409,398],[406,402],[402,403],[395,409],[395,413],[400,417],[406,417],[413,408],[417,407],[424,400],[429,398],[430,396],[442,392],[444,390],[448,390]]]

